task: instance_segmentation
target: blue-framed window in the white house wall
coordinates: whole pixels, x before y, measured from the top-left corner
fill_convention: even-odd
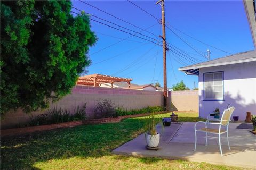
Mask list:
[[[204,100],[223,99],[223,72],[204,73]]]

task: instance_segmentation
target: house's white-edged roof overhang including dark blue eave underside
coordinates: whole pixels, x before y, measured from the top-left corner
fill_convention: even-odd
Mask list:
[[[229,65],[229,64],[237,64],[237,63],[246,63],[256,61],[256,58],[248,58],[245,60],[236,60],[231,62],[223,62],[223,63],[214,63],[214,64],[204,64],[204,65],[197,65],[197,66],[187,66],[179,68],[179,71],[185,72],[187,75],[199,75],[199,69],[206,68],[206,67],[213,67],[213,66],[221,66],[221,65]]]

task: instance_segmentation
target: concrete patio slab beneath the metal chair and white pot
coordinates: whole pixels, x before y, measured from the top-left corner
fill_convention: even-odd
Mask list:
[[[223,135],[221,157],[217,137],[210,135],[208,145],[205,146],[205,133],[198,133],[197,150],[194,152],[194,122],[171,124],[161,132],[160,149],[146,150],[145,134],[125,143],[113,150],[114,154],[132,155],[139,157],[162,157],[167,159],[182,159],[195,162],[207,162],[212,164],[239,166],[256,169],[256,135],[245,129],[236,129],[239,123],[230,123],[229,141],[231,151],[228,150],[226,136]],[[204,126],[204,124],[199,125]]]

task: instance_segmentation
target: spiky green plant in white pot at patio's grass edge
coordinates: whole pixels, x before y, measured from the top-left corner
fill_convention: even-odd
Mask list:
[[[147,148],[157,148],[160,141],[160,134],[156,131],[156,125],[159,119],[155,117],[155,112],[152,112],[146,119],[144,129],[146,130]]]

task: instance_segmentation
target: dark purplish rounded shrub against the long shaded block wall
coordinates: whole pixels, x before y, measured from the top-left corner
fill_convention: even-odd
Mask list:
[[[104,99],[98,101],[97,106],[94,108],[95,118],[106,118],[106,117],[116,117],[116,107],[110,99]]]

